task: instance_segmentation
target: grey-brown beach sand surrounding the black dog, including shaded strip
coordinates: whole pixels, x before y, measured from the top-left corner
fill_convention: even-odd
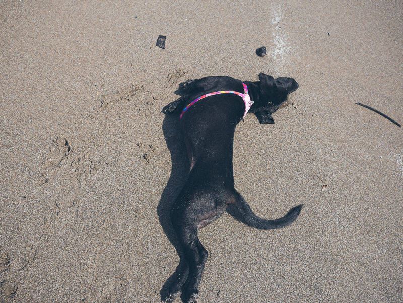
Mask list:
[[[403,301],[403,130],[355,104],[403,123],[402,16],[401,1],[1,2],[0,301],[158,302],[188,168],[160,111],[186,79],[259,72],[300,88],[274,125],[238,125],[236,188],[262,217],[304,207],[281,230],[225,214],[200,231],[200,302]]]

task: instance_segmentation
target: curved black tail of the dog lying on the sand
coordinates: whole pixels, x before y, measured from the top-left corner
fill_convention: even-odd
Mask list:
[[[234,198],[235,203],[228,204],[227,212],[236,220],[257,229],[277,229],[286,227],[297,219],[302,208],[302,205],[298,205],[290,209],[284,217],[276,220],[266,220],[256,216],[250,209],[249,204],[239,193],[236,193]]]

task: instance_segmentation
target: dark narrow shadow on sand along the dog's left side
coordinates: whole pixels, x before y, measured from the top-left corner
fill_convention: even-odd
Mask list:
[[[178,94],[177,91],[175,91]],[[172,102],[179,102],[180,99]],[[172,104],[170,103],[170,104]],[[169,105],[165,106],[168,107]],[[163,112],[164,112],[163,109]],[[164,133],[165,142],[171,153],[172,170],[168,183],[162,192],[160,202],[157,206],[157,214],[160,220],[162,229],[164,230],[169,241],[175,247],[176,252],[179,255],[180,261],[175,272],[168,278],[164,286],[160,291],[161,301],[166,298],[166,293],[171,285],[172,281],[176,280],[179,276],[179,272],[187,270],[184,262],[183,251],[179,244],[179,240],[172,227],[169,212],[176,197],[179,195],[180,190],[186,182],[189,172],[189,161],[186,153],[186,146],[180,131],[179,115],[165,115],[162,123],[162,131]]]

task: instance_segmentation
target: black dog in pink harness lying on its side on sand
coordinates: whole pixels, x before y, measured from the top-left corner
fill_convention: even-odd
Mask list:
[[[253,100],[249,111],[260,123],[274,123],[271,114],[297,88],[298,83],[292,78],[274,79],[263,73],[259,74],[257,82],[241,82],[226,76],[205,77],[186,81],[180,87],[183,97],[164,107],[165,114],[182,113],[181,128],[190,172],[170,212],[187,268],[171,283],[165,297],[162,297],[163,301],[174,301],[179,292],[182,292],[185,302],[197,300],[208,255],[197,237],[197,231],[218,219],[225,210],[235,219],[259,229],[288,226],[299,215],[302,205],[276,220],[257,217],[235,190],[232,169],[235,127],[246,114],[247,100]],[[200,96],[215,92],[218,93],[188,106]]]

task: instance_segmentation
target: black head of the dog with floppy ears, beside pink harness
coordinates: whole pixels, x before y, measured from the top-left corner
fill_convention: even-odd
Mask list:
[[[298,83],[293,78],[272,76],[260,73],[259,82],[255,82],[259,87],[258,100],[250,108],[260,123],[273,124],[272,113],[279,109],[280,105],[287,100],[287,95],[296,91]]]

